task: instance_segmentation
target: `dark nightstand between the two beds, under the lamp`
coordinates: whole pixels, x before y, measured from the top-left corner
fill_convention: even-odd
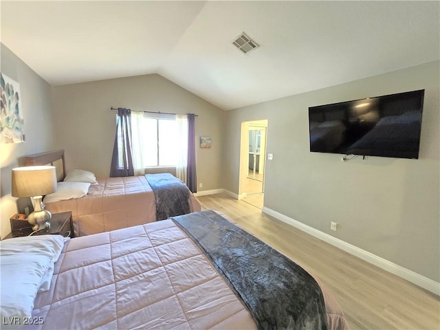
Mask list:
[[[12,232],[4,239],[12,237],[28,236],[32,232],[32,226],[27,220],[11,219]],[[74,227],[72,224],[72,212],[61,212],[52,214],[50,219],[50,228],[35,232],[32,236],[59,234],[65,237],[74,237]]]

